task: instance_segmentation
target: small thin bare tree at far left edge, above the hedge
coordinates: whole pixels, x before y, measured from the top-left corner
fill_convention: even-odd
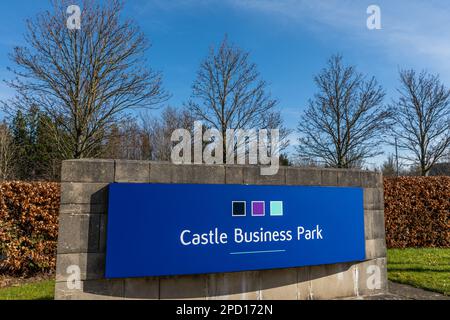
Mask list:
[[[16,152],[11,133],[5,123],[0,124],[0,181],[14,176]]]

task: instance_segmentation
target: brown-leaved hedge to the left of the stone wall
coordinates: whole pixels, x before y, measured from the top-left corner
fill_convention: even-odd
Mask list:
[[[55,269],[59,197],[58,183],[0,183],[1,273]]]

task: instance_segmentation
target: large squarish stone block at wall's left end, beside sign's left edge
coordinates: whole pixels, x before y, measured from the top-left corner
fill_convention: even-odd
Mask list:
[[[58,253],[99,252],[100,215],[61,215]]]

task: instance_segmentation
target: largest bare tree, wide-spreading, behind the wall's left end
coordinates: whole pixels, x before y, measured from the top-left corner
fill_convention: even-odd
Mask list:
[[[27,45],[11,55],[16,77],[8,84],[17,97],[4,105],[42,108],[63,158],[95,157],[112,124],[167,94],[161,74],[147,66],[149,42],[132,21],[120,19],[121,1],[85,0],[80,30],[66,26],[70,2],[53,1],[52,12],[27,21]]]

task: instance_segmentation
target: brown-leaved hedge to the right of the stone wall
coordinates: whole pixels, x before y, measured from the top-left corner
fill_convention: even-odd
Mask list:
[[[389,248],[450,247],[450,177],[384,180]]]

